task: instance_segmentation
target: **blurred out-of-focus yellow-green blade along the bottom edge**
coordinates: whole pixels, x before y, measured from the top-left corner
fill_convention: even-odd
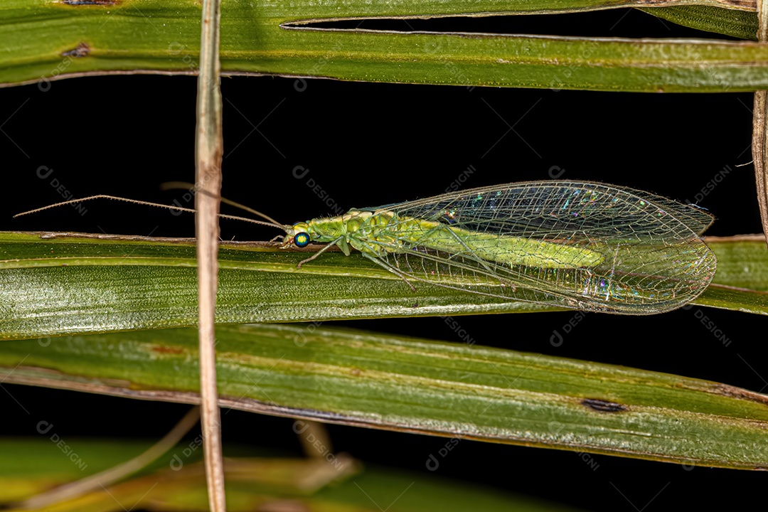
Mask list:
[[[78,455],[81,466],[73,464],[61,450],[47,438],[0,438],[0,504],[30,497],[35,492],[51,486],[77,480],[96,471],[120,464],[127,458],[147,448],[147,443],[121,439],[119,441],[94,441],[70,438],[68,447]],[[208,510],[205,478],[197,463],[197,454],[184,457],[183,466],[174,461],[174,455],[184,454],[180,446],[167,454],[157,471],[112,485],[108,493],[99,489],[78,500],[70,500],[48,510],[58,512],[124,512],[121,504],[131,504],[133,509],[157,510]],[[545,501],[502,493],[477,484],[459,484],[442,478],[409,474],[387,467],[339,468],[324,459],[308,460],[276,457],[275,454],[258,453],[249,446],[230,445],[224,454],[237,456],[225,462],[227,477],[227,505],[230,512],[274,510],[290,500],[293,507],[301,510],[378,510],[372,497],[389,497],[388,510],[392,512],[416,512],[429,503],[434,510],[453,512],[458,510],[521,510],[521,512],[565,512],[571,508],[560,507]],[[244,458],[247,454],[248,458]],[[255,458],[259,457],[259,458]],[[341,461],[341,456],[336,459]],[[349,457],[345,463],[349,466]],[[174,467],[177,471],[170,469]],[[329,471],[329,468],[331,471]],[[359,471],[349,478],[350,471]],[[344,470],[344,471],[342,471]],[[327,483],[319,489],[306,487],[306,481]],[[314,475],[319,475],[320,478]],[[347,477],[345,479],[345,477]],[[302,485],[304,484],[304,485]],[[151,493],[147,492],[151,489]],[[403,494],[408,489],[409,492]],[[400,499],[394,500],[399,494]],[[373,508],[371,508],[373,506]],[[15,509],[10,509],[15,510]],[[293,510],[293,509],[292,509]]]

